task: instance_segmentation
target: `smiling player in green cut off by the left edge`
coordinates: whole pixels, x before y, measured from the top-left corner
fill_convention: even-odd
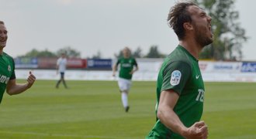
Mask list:
[[[5,23],[0,21],[0,103],[5,89],[9,95],[22,93],[29,89],[36,80],[36,77],[29,72],[27,83],[16,83],[15,63],[11,56],[3,52],[7,39]]]

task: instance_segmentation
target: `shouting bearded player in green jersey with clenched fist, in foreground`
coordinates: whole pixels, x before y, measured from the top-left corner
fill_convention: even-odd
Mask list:
[[[213,42],[211,17],[192,2],[179,2],[168,13],[179,45],[164,59],[157,78],[157,121],[147,138],[207,138],[200,121],[204,84],[199,53]]]

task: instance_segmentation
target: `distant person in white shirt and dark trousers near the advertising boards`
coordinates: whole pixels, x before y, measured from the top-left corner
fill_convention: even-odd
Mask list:
[[[61,57],[57,59],[57,74],[61,74],[61,79],[57,81],[56,88],[59,88],[60,83],[62,82],[64,84],[64,87],[67,89],[67,84],[64,80],[64,73],[67,68],[67,58],[64,53],[61,53]]]

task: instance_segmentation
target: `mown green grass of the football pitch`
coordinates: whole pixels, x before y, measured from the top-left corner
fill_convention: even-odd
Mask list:
[[[19,82],[23,82],[19,80]],[[0,138],[144,138],[154,126],[155,82],[133,82],[125,113],[114,81],[37,80],[26,93],[5,96]],[[202,120],[209,138],[256,138],[256,83],[206,83]]]

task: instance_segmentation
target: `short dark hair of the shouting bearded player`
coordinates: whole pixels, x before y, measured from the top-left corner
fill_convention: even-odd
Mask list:
[[[194,2],[178,2],[171,7],[168,13],[168,25],[175,31],[178,40],[182,40],[185,37],[185,29],[183,28],[184,22],[192,22],[188,12],[190,5],[196,4]]]

